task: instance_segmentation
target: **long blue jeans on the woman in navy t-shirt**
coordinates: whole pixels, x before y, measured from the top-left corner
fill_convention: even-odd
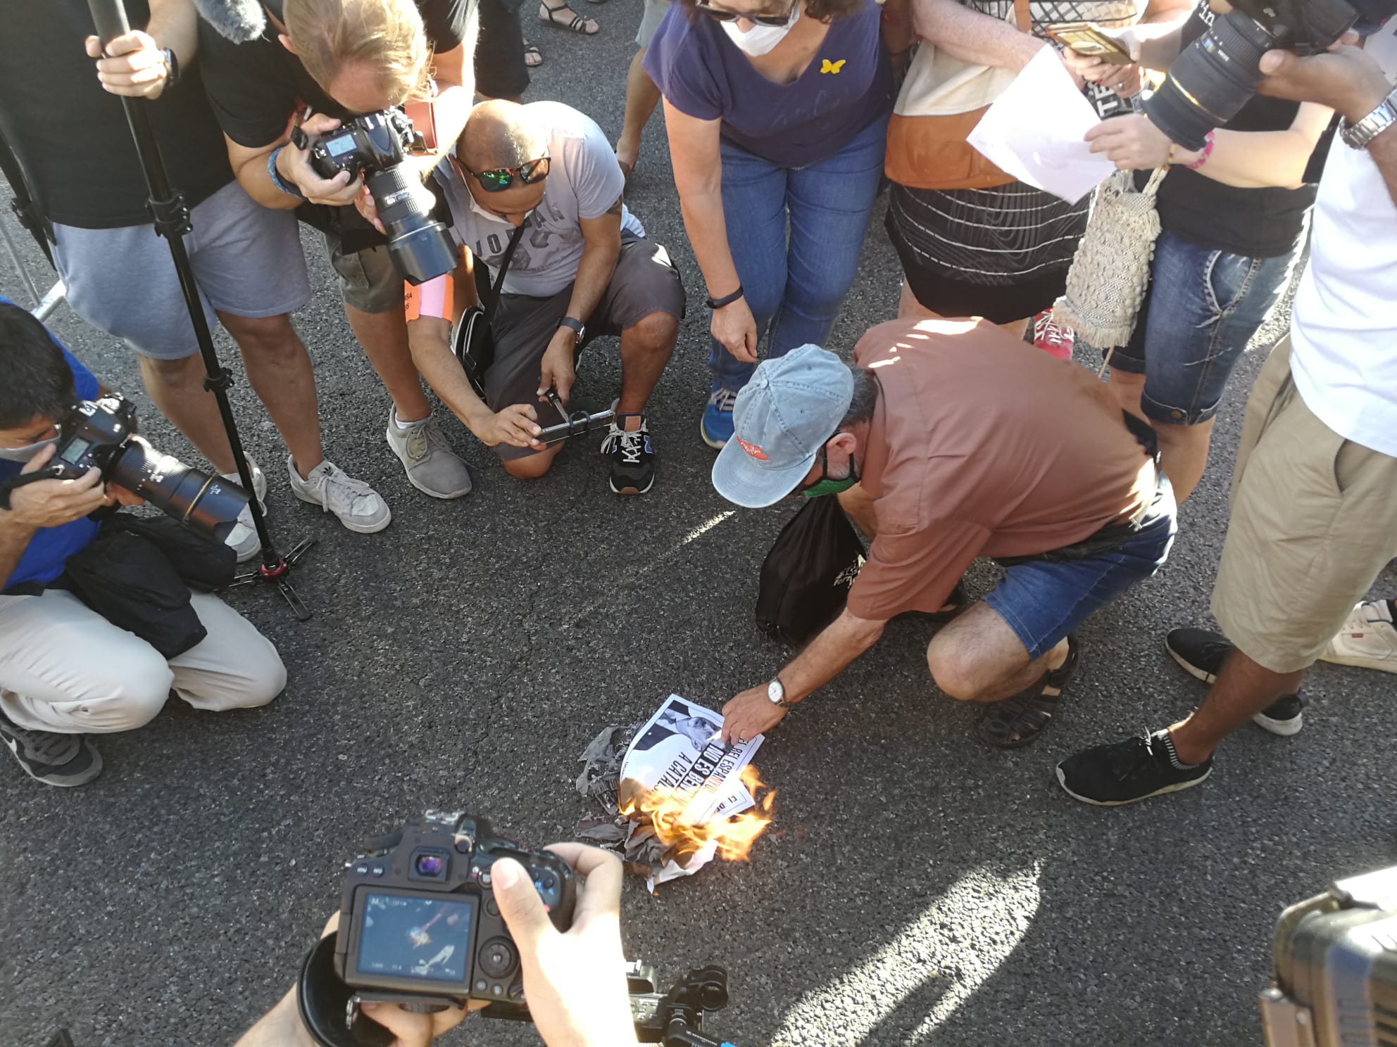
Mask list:
[[[778,168],[722,142],[722,215],[728,250],[757,339],[767,356],[823,346],[854,285],[859,248],[883,177],[887,119],[875,120],[833,156],[807,168]],[[787,226],[789,222],[789,239]],[[729,288],[712,288],[726,293]],[[712,339],[714,378],[736,392],[754,366]]]

